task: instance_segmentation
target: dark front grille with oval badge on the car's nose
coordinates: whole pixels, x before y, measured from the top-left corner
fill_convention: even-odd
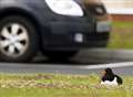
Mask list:
[[[86,4],[85,6],[86,13],[92,15],[104,15],[106,10],[103,4]]]

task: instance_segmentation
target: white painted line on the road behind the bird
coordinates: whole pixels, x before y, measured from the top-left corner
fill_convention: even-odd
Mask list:
[[[127,67],[133,66],[133,62],[123,62],[123,63],[111,63],[111,64],[98,64],[98,65],[89,65],[89,66],[80,66],[83,69],[100,69],[106,67]]]

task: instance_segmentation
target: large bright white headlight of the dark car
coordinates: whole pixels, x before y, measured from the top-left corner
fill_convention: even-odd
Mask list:
[[[45,2],[54,13],[83,17],[82,8],[74,0],[45,0]]]

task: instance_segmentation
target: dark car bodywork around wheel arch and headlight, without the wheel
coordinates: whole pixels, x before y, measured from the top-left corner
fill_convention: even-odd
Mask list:
[[[75,0],[86,12],[82,0]],[[50,10],[44,0],[0,0],[0,14],[13,11],[25,12],[37,21],[39,25],[40,45],[43,50],[80,50],[84,47],[105,46],[109,41],[110,30],[96,33],[99,21],[110,21],[109,14],[84,17],[69,17],[55,14]],[[110,26],[110,25],[109,25]],[[76,35],[81,34],[81,42]]]

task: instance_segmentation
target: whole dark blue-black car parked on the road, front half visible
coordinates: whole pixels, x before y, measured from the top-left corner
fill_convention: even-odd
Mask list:
[[[66,60],[105,47],[111,19],[98,0],[0,0],[0,60],[30,62],[42,52]]]

